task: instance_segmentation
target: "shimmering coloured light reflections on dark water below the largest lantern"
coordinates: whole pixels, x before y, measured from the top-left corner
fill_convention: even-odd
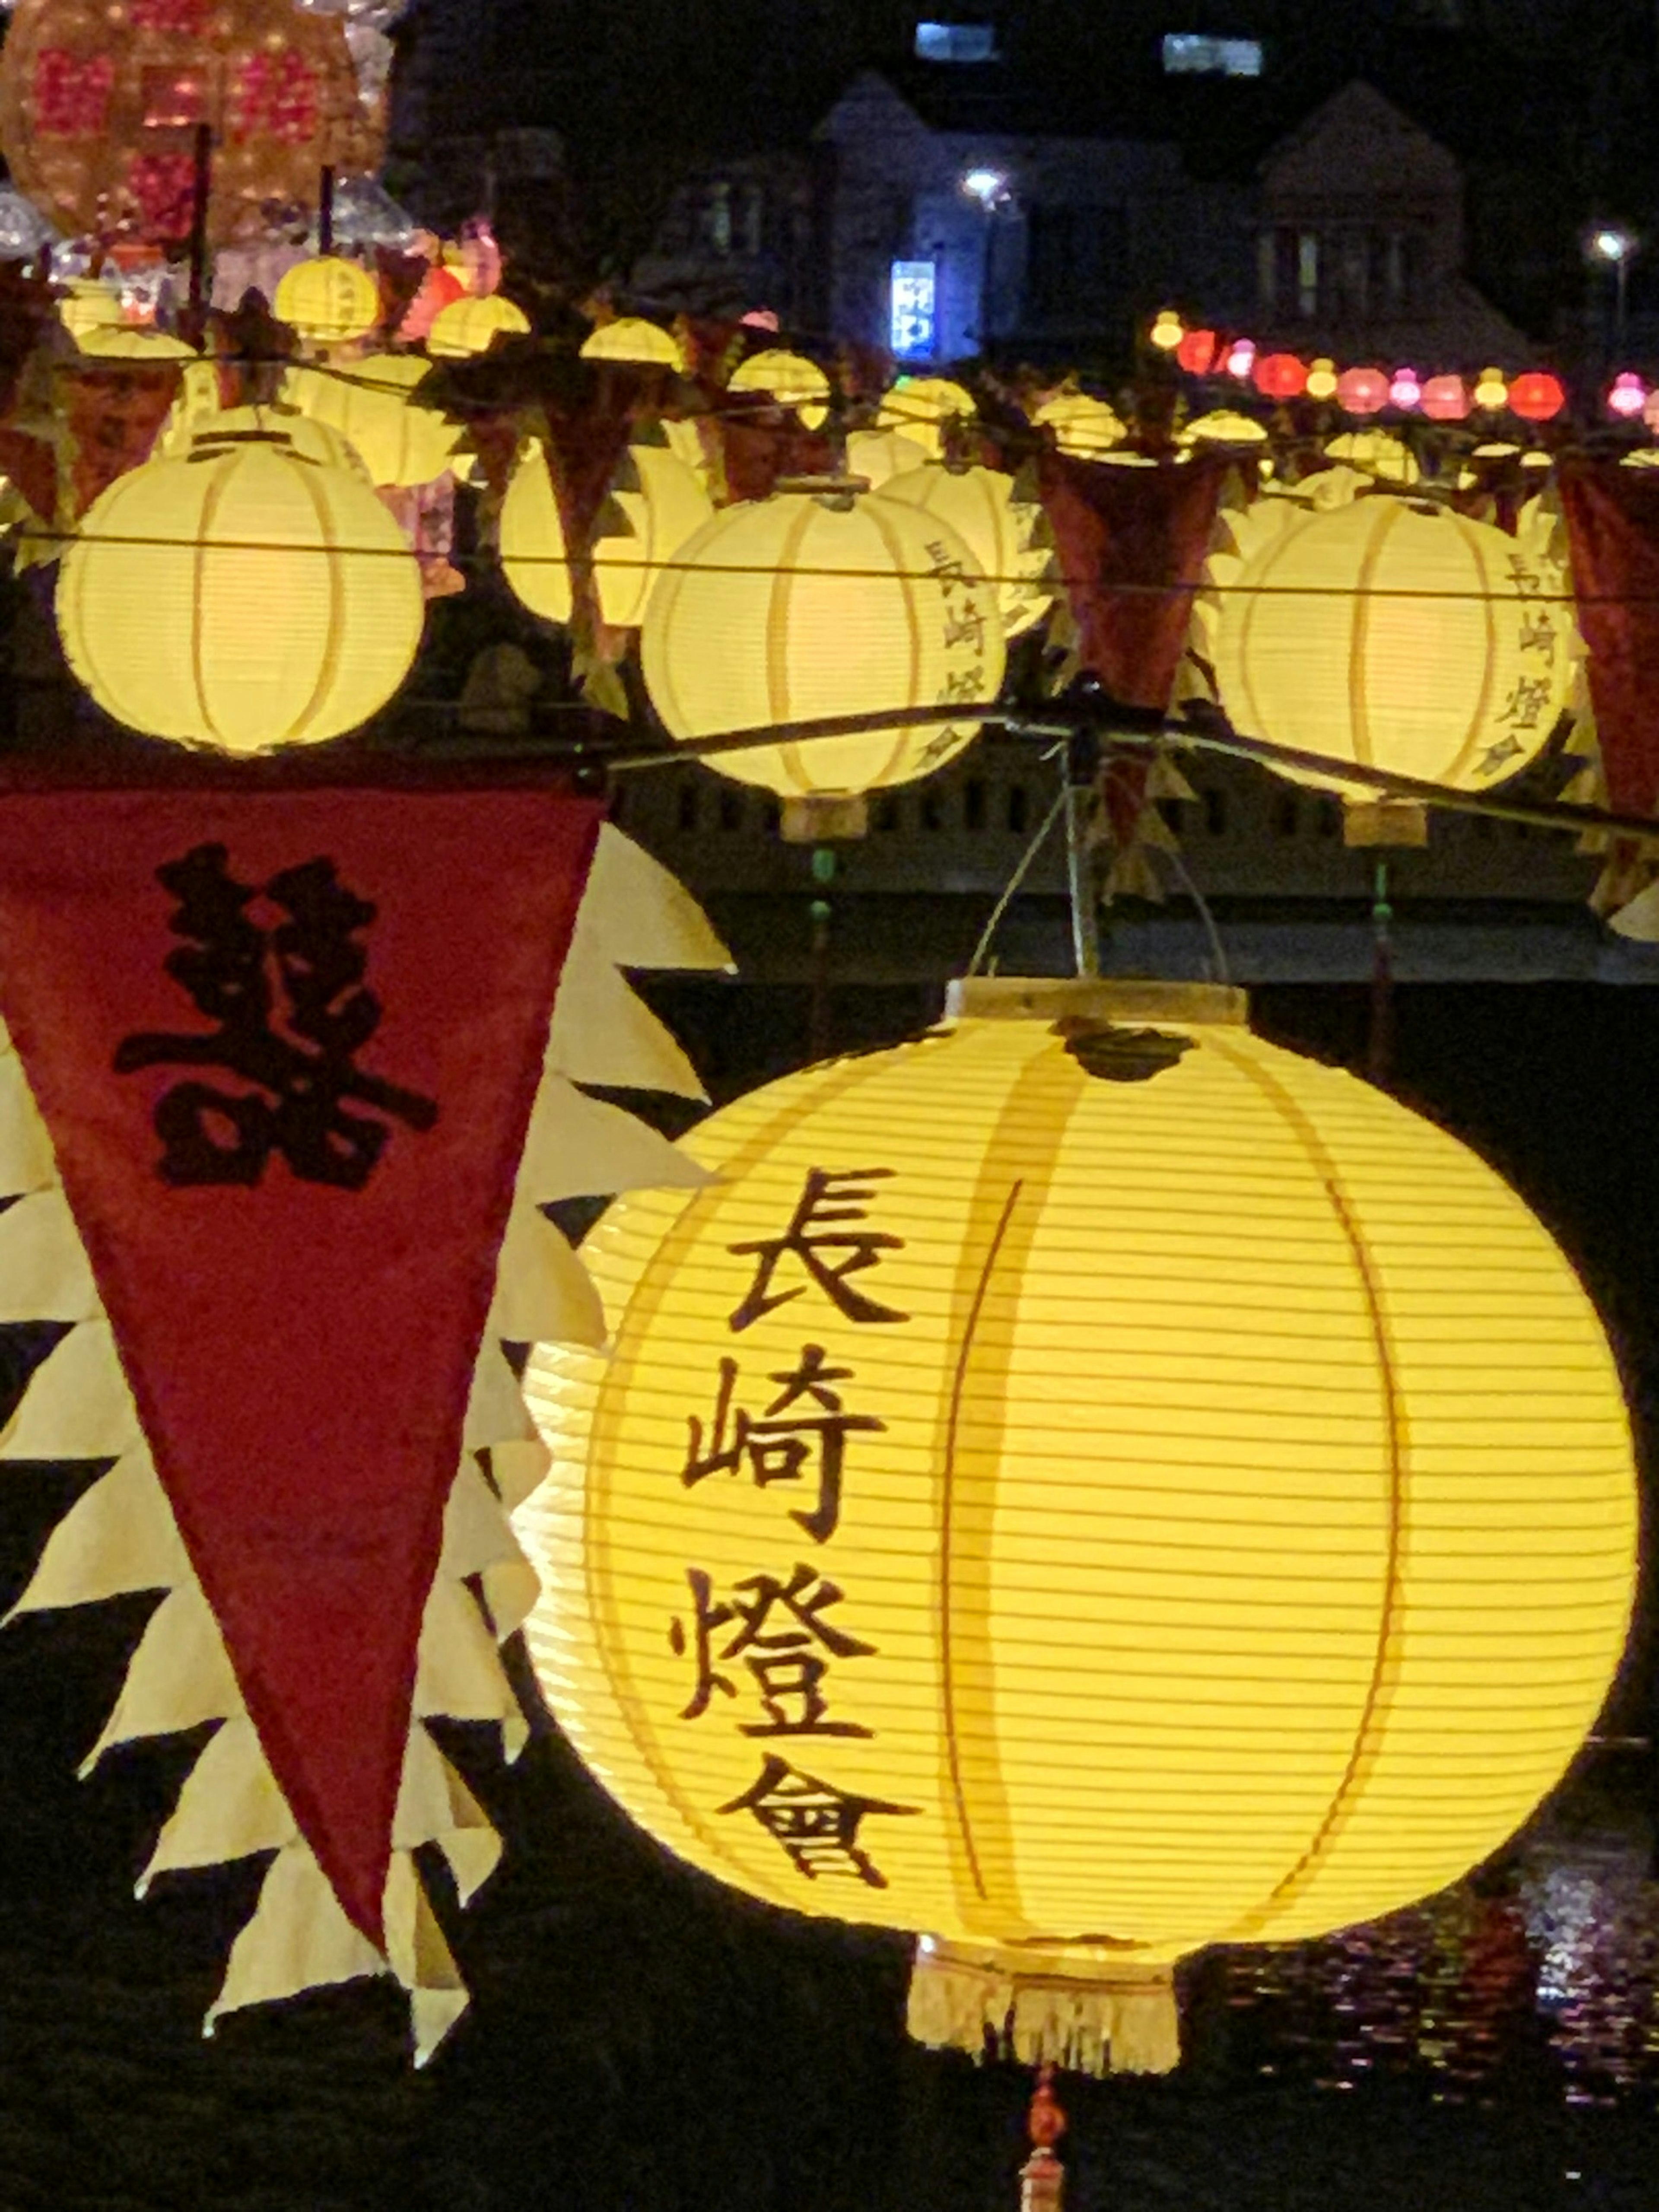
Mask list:
[[[1444,2101],[1652,2097],[1659,1880],[1652,1823],[1630,1803],[1646,1776],[1606,1781],[1593,1774],[1427,1905],[1327,1942],[1225,1953],[1225,2064],[1329,2090],[1411,2075]]]

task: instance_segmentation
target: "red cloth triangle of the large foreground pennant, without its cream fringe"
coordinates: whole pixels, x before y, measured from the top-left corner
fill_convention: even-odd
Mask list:
[[[0,801],[0,1009],[270,1767],[374,1942],[599,812],[270,770]]]

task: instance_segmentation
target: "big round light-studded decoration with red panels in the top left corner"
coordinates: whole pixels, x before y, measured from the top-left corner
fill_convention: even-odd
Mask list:
[[[312,208],[323,168],[380,166],[336,13],[294,0],[18,0],[0,144],[62,232],[188,237],[204,126],[215,243],[268,230],[272,210]]]

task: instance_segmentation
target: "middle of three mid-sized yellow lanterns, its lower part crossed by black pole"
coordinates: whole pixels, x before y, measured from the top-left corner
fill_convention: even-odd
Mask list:
[[[993,699],[995,591],[956,531],[891,500],[779,493],[688,540],[646,606],[646,690],[670,737]],[[909,783],[978,721],[763,745],[717,759],[790,799]]]

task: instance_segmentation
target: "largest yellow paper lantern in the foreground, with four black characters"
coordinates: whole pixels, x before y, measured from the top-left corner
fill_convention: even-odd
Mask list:
[[[615,1345],[531,1356],[529,1639],[670,1849],[916,1931],[927,2039],[1013,2002],[1097,2064],[1183,1953],[1526,1820],[1624,1646],[1635,1469],[1573,1267],[1453,1137],[1239,993],[969,993],[588,1237]]]

